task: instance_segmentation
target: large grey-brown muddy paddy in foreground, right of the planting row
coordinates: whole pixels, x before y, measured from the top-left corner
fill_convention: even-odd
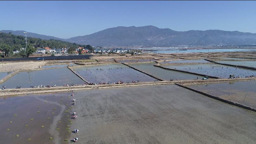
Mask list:
[[[75,91],[79,143],[253,144],[255,112],[177,85]],[[74,138],[75,134],[71,134]]]

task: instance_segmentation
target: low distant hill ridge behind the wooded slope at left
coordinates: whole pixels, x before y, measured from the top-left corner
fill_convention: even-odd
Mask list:
[[[9,33],[11,32],[14,35],[22,35],[24,36],[24,30],[1,30],[1,32],[3,33]],[[50,39],[54,39],[54,40],[61,40],[61,41],[65,41],[65,39],[61,39],[61,38],[57,38],[54,36],[48,36],[48,35],[43,35],[43,34],[36,34],[36,33],[27,33],[28,37],[34,37],[34,38],[40,38],[43,40],[50,40]]]

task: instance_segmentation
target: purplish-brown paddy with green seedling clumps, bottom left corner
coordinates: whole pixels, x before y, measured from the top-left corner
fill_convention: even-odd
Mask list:
[[[72,110],[64,111],[71,106],[71,99],[70,93],[1,98],[1,143],[56,144],[64,141],[70,135],[65,128],[69,124],[67,119],[71,120]]]

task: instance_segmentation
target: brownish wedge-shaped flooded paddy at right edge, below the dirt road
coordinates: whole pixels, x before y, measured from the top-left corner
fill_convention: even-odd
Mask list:
[[[256,80],[233,83],[191,85],[189,87],[213,96],[256,108],[255,86]]]

